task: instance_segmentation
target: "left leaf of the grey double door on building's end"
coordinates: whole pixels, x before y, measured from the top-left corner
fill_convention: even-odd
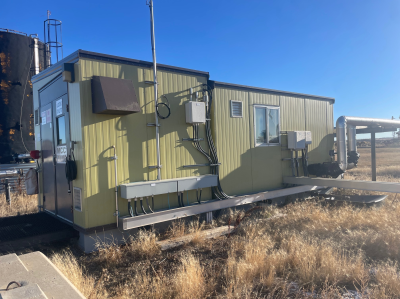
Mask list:
[[[46,211],[56,214],[52,103],[41,107],[40,126],[42,135],[43,205]]]

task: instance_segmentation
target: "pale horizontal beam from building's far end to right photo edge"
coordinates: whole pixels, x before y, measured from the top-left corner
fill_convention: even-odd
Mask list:
[[[400,183],[338,180],[309,177],[284,177],[283,182],[293,185],[313,185],[323,187],[336,187],[343,189],[356,189],[377,192],[400,193]]]

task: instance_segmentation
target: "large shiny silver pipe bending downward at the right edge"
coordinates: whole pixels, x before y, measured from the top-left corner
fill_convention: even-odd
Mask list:
[[[336,141],[337,155],[340,169],[346,171],[351,165],[347,162],[347,150],[350,152],[357,151],[356,128],[357,126],[368,127],[393,127],[400,128],[400,120],[382,119],[382,118],[366,118],[354,116],[341,116],[336,121]],[[348,139],[348,147],[346,142],[346,131]]]

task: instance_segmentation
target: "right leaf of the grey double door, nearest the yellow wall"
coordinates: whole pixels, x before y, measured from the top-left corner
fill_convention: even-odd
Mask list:
[[[53,134],[55,149],[55,177],[57,189],[57,216],[72,221],[72,183],[71,188],[65,176],[65,159],[70,154],[68,95],[54,100],[53,104]]]

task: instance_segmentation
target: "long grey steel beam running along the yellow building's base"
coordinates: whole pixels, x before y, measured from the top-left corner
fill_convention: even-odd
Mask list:
[[[224,200],[213,200],[213,201],[205,201],[201,204],[194,204],[191,206],[164,210],[160,212],[155,212],[152,214],[140,215],[136,217],[120,217],[119,218],[119,227],[123,230],[128,230],[136,227],[141,227],[145,225],[176,220],[183,217],[198,215],[202,213],[207,213],[211,211],[216,211],[220,209],[226,209],[230,207],[251,204],[254,202],[273,199],[308,191],[314,191],[320,189],[316,186],[298,186],[291,187],[285,189],[272,190],[262,193],[257,193],[253,195],[246,196],[237,196]]]

